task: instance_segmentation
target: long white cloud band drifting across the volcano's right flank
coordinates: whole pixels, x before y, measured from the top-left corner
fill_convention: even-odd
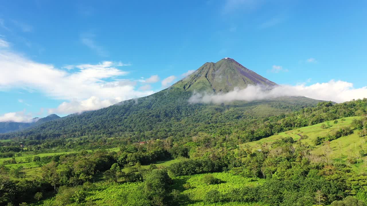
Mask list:
[[[245,89],[235,89],[225,94],[195,93],[189,99],[189,102],[219,104],[236,100],[252,101],[282,96],[305,96],[312,99],[331,100],[340,103],[352,99],[367,98],[367,87],[353,88],[352,83],[334,80],[310,86],[301,84],[297,86],[280,85],[273,88],[264,88],[258,85],[250,85]]]

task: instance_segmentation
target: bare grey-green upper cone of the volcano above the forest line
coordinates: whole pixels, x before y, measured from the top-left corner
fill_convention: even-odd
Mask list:
[[[183,78],[174,87],[186,91],[229,92],[234,88],[248,85],[275,86],[276,83],[242,66],[232,58],[224,58],[216,63],[207,62],[190,76]]]

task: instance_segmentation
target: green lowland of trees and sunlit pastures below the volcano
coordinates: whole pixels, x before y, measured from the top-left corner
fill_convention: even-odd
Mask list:
[[[164,132],[3,135],[0,205],[366,205],[367,99],[251,117],[213,108]]]

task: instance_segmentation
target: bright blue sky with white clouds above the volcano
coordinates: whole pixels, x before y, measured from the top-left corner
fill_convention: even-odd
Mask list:
[[[367,97],[366,8],[363,0],[4,1],[0,121],[149,95],[225,57],[278,84]]]

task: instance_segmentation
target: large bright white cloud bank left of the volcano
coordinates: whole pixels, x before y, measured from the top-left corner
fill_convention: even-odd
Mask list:
[[[137,91],[136,81],[118,79],[128,74],[116,68],[120,63],[105,61],[97,65],[75,65],[74,70],[61,70],[14,52],[0,50],[0,65],[0,90],[21,88],[66,100],[55,110],[59,114],[95,110],[153,93]],[[63,106],[67,103],[73,107]]]

